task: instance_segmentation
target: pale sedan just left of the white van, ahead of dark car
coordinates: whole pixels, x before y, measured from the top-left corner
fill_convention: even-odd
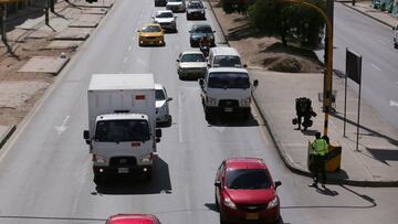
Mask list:
[[[177,58],[177,73],[182,78],[202,78],[207,71],[206,57],[201,52],[182,52]]]

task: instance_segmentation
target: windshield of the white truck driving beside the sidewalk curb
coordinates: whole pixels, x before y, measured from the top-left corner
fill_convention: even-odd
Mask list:
[[[247,73],[210,73],[209,88],[249,88]]]

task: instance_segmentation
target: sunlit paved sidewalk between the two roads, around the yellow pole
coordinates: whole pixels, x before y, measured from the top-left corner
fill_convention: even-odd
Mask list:
[[[350,3],[349,3],[350,4]],[[345,3],[347,7],[348,3]],[[355,10],[368,17],[395,25],[398,19],[379,10],[371,9],[370,1],[357,2]],[[217,15],[216,18],[220,17]],[[220,21],[220,19],[218,19]],[[223,28],[224,25],[221,26]],[[223,28],[223,33],[229,31]],[[234,46],[234,42],[231,42]],[[265,120],[279,153],[286,167],[302,175],[310,177],[307,170],[307,146],[314,140],[315,131],[323,132],[324,114],[318,94],[323,92],[322,74],[275,73],[261,68],[250,70],[251,78],[259,79],[254,102]],[[354,89],[347,89],[346,137],[344,126],[344,78],[333,77],[337,90],[336,113],[328,119],[331,141],[342,146],[341,170],[328,174],[328,183],[358,186],[398,186],[398,129],[389,125],[366,100],[360,102],[359,147],[356,150],[357,103]],[[295,130],[295,98],[307,97],[317,117],[307,131]]]

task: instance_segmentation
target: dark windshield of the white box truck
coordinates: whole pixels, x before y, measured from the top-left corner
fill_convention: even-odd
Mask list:
[[[101,142],[147,141],[150,139],[147,120],[101,120],[95,140]]]

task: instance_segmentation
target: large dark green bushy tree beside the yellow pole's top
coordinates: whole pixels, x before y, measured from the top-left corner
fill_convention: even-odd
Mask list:
[[[323,0],[306,2],[325,9]],[[298,3],[256,0],[249,7],[248,14],[255,28],[265,34],[281,38],[283,45],[287,45],[287,40],[297,40],[302,45],[316,46],[324,28],[324,21],[316,11]]]

